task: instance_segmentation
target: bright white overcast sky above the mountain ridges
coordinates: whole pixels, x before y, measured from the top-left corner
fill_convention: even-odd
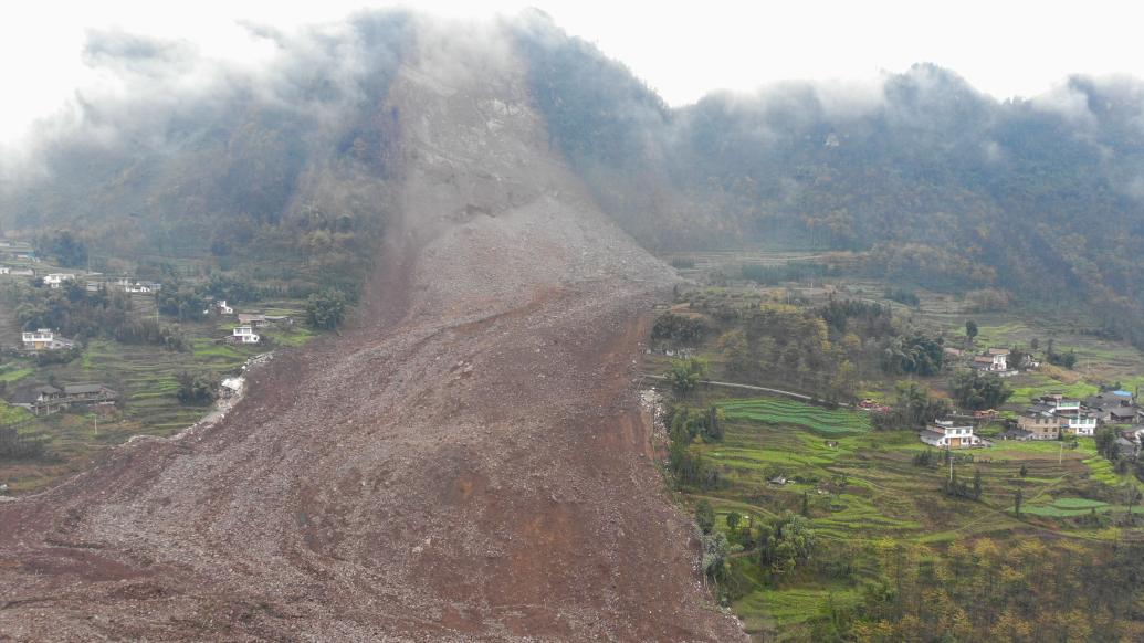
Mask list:
[[[0,14],[0,142],[13,142],[78,86],[98,82],[80,53],[88,29],[117,26],[184,38],[212,56],[249,59],[236,19],[291,27],[333,21],[370,0],[101,0],[6,3]],[[98,6],[96,6],[98,5]],[[999,98],[1044,92],[1074,72],[1144,77],[1144,9],[1131,2],[1007,0],[591,0],[405,2],[450,16],[515,14],[535,6],[570,33],[625,62],[668,103],[713,89],[750,90],[787,79],[855,80],[932,62]],[[1144,6],[1142,6],[1144,7]]]

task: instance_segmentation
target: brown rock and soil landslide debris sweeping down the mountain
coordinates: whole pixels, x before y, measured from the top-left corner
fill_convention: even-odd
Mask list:
[[[742,636],[633,390],[666,271],[549,151],[508,45],[418,40],[357,324],[219,423],[0,505],[0,638]]]

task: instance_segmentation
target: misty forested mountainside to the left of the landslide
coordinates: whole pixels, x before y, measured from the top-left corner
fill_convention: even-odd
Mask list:
[[[0,191],[0,229],[67,229],[97,270],[206,257],[352,286],[390,204],[396,114],[383,103],[407,17],[257,35],[273,49],[265,68],[89,34],[85,58],[118,92],[80,92],[71,112],[41,124],[32,160]]]

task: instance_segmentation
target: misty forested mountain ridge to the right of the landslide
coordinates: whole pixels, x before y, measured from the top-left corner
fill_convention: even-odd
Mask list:
[[[919,64],[879,84],[788,82],[669,110],[542,17],[522,30],[553,144],[660,249],[858,253],[929,287],[1088,308],[1144,341],[1144,84],[1074,77],[999,102]]]

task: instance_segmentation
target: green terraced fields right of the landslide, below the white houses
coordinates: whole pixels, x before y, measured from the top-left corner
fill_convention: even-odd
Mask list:
[[[917,466],[924,452],[913,430],[875,431],[868,418],[848,410],[827,410],[794,400],[754,398],[715,402],[723,410],[723,439],[691,445],[705,463],[718,471],[713,489],[684,490],[690,501],[709,501],[716,527],[726,529],[736,511],[744,521],[762,521],[785,511],[800,513],[805,499],[808,517],[826,547],[852,551],[859,567],[872,565],[871,551],[880,541],[913,542],[937,550],[982,537],[1009,542],[1030,531],[1055,530],[1085,540],[1106,538],[1097,525],[1058,518],[1121,513],[1126,508],[1087,500],[1107,484],[1133,484],[1131,475],[1117,474],[1096,454],[1091,439],[1075,448],[1058,442],[996,442],[992,448],[963,455],[974,461],[955,465],[959,479],[979,473],[979,500],[951,498],[942,492],[948,467]],[[1019,470],[1024,467],[1025,475]],[[777,475],[787,484],[771,484]],[[1024,493],[1022,515],[1014,515],[1014,494]],[[1058,495],[1054,500],[1054,495]],[[733,574],[745,588],[732,608],[755,635],[784,640],[826,601],[850,602],[857,585],[824,587],[813,579],[766,586],[752,572],[749,558],[737,558]],[[757,567],[756,567],[757,569]],[[796,637],[797,638],[797,637]]]

